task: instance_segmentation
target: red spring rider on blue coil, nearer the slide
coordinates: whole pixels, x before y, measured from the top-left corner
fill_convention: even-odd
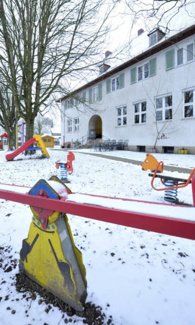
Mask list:
[[[70,183],[70,181],[68,180],[68,174],[71,175],[73,172],[73,160],[75,160],[75,155],[72,151],[69,151],[67,155],[67,162],[57,160],[57,162],[55,163],[57,169],[59,169],[60,167],[60,180],[63,183]]]

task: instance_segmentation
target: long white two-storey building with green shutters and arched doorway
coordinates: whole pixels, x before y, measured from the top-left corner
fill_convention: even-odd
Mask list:
[[[96,79],[58,100],[61,141],[129,139],[130,150],[149,151],[157,139],[157,152],[195,154],[195,25],[138,33],[146,50],[114,68],[105,59]]]

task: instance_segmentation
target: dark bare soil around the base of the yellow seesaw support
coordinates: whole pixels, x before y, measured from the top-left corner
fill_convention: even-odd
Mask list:
[[[23,272],[16,274],[15,286],[17,292],[24,293],[23,298],[26,298],[26,300],[35,300],[37,297],[36,293],[38,293],[41,296],[41,298],[39,299],[39,304],[41,305],[44,302],[47,305],[46,308],[44,305],[44,310],[46,313],[49,313],[52,309],[51,305],[53,305],[54,307],[58,307],[60,310],[62,310],[65,313],[65,315],[63,315],[65,324],[68,322],[74,323],[74,319],[71,317],[77,315],[83,318],[84,324],[114,325],[112,321],[112,316],[110,316],[109,319],[106,319],[106,315],[102,312],[102,308],[100,306],[95,306],[92,302],[87,302],[84,305],[83,311],[77,312],[69,305],[64,303],[62,300],[55,297],[51,292],[48,292],[39,284],[29,279],[29,277],[27,277]],[[68,319],[66,318],[67,316],[69,317]]]

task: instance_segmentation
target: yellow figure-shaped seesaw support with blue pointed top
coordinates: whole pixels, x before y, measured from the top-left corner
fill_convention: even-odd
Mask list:
[[[60,196],[70,193],[56,176],[48,182],[41,179],[29,191],[42,200],[60,200]],[[87,296],[86,269],[82,253],[75,247],[67,215],[35,206],[30,209],[33,216],[28,238],[22,241],[20,270],[75,310],[82,311]]]

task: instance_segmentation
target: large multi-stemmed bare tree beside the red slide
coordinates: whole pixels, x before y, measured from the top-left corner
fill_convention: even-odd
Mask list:
[[[55,93],[68,94],[70,80],[97,64],[116,2],[0,0],[0,84],[9,85],[26,121],[26,140]]]

